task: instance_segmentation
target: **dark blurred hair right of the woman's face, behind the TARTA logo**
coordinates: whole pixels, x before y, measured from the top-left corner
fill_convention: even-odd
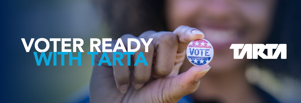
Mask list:
[[[279,0],[271,35],[265,44],[287,44],[287,59],[259,59],[259,65],[301,79],[301,1]],[[275,52],[275,49],[273,49]],[[267,54],[267,50],[264,51]]]

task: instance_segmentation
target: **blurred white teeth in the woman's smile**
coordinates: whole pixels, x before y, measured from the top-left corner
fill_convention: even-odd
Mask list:
[[[231,42],[237,38],[237,33],[233,29],[229,30],[217,30],[217,29],[204,29],[206,39],[210,42],[225,43]]]

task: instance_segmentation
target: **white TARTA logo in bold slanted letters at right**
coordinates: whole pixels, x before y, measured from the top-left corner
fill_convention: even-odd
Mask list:
[[[253,49],[252,49],[253,47]],[[286,44],[232,44],[230,49],[234,49],[234,59],[242,59],[247,53],[247,59],[257,59],[260,56],[263,59],[277,59],[281,52],[281,59],[286,59]],[[242,49],[238,55],[238,49]],[[259,49],[259,50],[258,50]],[[268,55],[263,51],[268,49]],[[276,49],[273,55],[273,49]]]

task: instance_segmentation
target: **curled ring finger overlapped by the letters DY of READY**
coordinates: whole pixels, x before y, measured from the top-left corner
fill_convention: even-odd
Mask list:
[[[127,34],[121,37],[121,39],[123,39],[124,41],[124,44],[126,45],[126,48],[127,46],[129,46],[126,38],[135,38],[140,42],[140,49],[137,52],[135,52],[134,61],[137,62],[137,59],[142,60],[141,56],[139,55],[142,55],[143,53],[144,58],[148,64],[147,66],[145,66],[144,63],[138,63],[137,65],[134,66],[134,74],[133,74],[134,78],[132,81],[132,85],[135,87],[135,89],[140,89],[142,86],[144,86],[144,83],[146,83],[151,77],[154,45],[151,43],[150,45],[148,45],[148,47],[145,47],[145,45],[142,43],[140,38]],[[147,41],[148,38],[144,38],[144,39],[146,40],[146,42],[148,42]],[[137,47],[136,43],[131,43],[131,48],[136,48],[136,47]],[[148,48],[148,52],[145,52],[145,48]]]

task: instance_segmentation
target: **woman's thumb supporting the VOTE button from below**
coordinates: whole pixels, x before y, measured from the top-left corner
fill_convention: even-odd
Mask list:
[[[211,67],[209,65],[193,66],[188,71],[172,78],[167,91],[169,98],[180,100],[183,96],[193,93],[200,84],[203,77]]]

